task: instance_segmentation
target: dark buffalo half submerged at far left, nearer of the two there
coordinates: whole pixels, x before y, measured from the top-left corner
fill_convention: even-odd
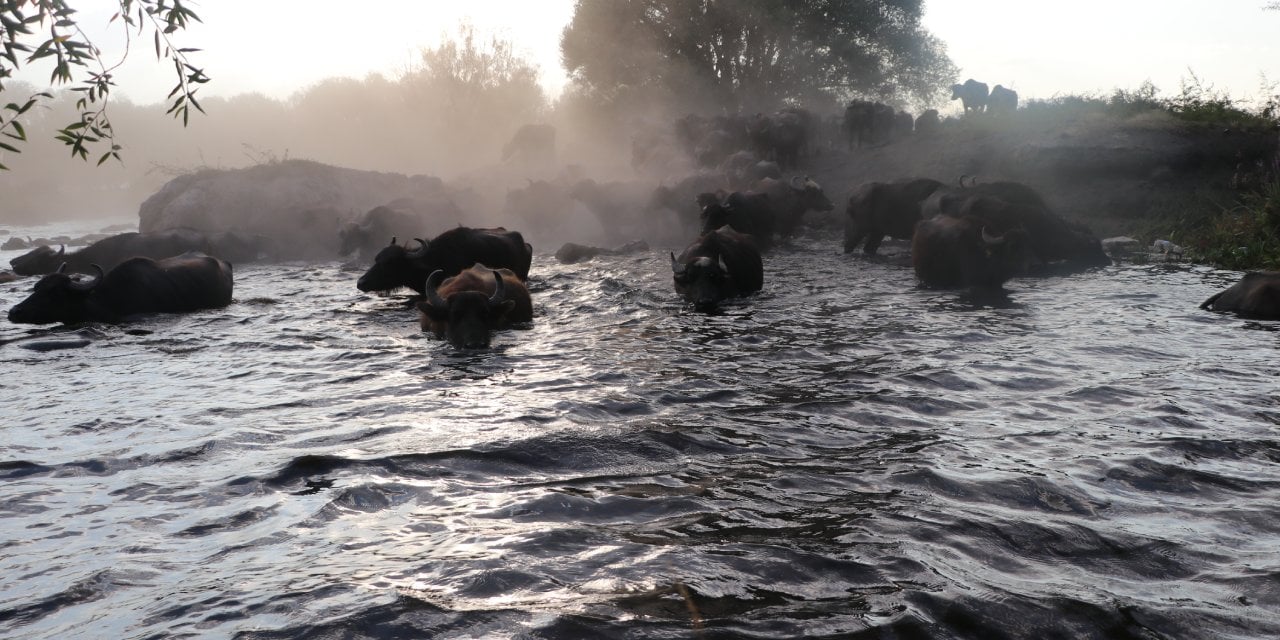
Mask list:
[[[119,323],[141,314],[179,314],[225,307],[232,302],[232,265],[204,253],[164,260],[133,257],[97,278],[73,280],[59,268],[36,283],[27,300],[9,310],[9,321]]]

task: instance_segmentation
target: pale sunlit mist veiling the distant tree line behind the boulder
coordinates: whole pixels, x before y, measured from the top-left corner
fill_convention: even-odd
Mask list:
[[[6,86],[10,95],[35,91]],[[187,127],[165,114],[163,105],[113,97],[108,113],[115,141],[123,146],[122,161],[109,159],[101,165],[96,160],[105,146],[91,150],[83,161],[52,140],[58,128],[78,118],[76,97],[59,93],[23,120],[29,141],[20,155],[4,159],[10,170],[0,172],[5,193],[0,224],[137,216],[148,196],[179,175],[312,160],[438,177],[466,210],[458,223],[521,228],[534,220],[513,215],[512,209],[536,202],[515,197],[513,205],[508,196],[518,196],[534,182],[547,180],[567,196],[570,187],[588,178],[643,183],[652,189],[690,170],[673,148],[640,172],[630,163],[632,136],[668,131],[678,110],[653,104],[602,106],[572,90],[553,101],[536,83],[535,69],[500,41],[447,42],[425,50],[421,64],[399,77],[330,78],[287,100],[257,93],[204,99],[205,113],[193,111]],[[553,127],[554,148],[508,148],[504,157],[504,147],[526,124]],[[539,239],[544,242],[558,239],[548,237],[557,229],[573,229],[579,241],[613,239],[572,198],[545,206],[562,210],[554,220],[541,220],[544,237]]]

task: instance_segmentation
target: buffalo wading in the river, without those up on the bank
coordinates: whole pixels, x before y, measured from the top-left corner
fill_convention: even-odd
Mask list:
[[[709,311],[726,298],[760,291],[762,256],[795,232],[806,210],[832,209],[812,179],[797,177],[785,187],[796,201],[786,207],[774,206],[777,198],[764,192],[698,196],[701,232],[682,252],[671,253],[673,288],[694,308]],[[1061,219],[1034,189],[1014,182],[868,183],[849,198],[845,212],[845,252],[874,255],[886,237],[910,239],[915,275],[925,287],[1000,288],[1019,275],[1111,262],[1087,228]],[[232,302],[233,278],[221,253],[234,255],[243,243],[234,234],[170,230],[122,233],[72,253],[40,246],[10,261],[15,274],[44,276],[9,311],[9,320],[119,323],[142,314],[223,307]],[[644,243],[631,247],[648,250]],[[572,253],[562,261],[573,261],[600,252],[611,251],[566,244],[558,255]],[[457,227],[431,241],[402,244],[392,238],[356,287],[412,289],[422,330],[457,347],[486,347],[494,329],[532,320],[525,285],[532,256],[518,232]],[[1280,319],[1280,274],[1247,274],[1202,307]]]

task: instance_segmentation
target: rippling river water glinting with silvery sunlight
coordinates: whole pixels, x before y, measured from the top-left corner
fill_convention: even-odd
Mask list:
[[[554,248],[483,352],[337,261],[0,324],[0,635],[1280,636],[1280,323],[1197,308],[1240,274],[803,237],[708,316]]]

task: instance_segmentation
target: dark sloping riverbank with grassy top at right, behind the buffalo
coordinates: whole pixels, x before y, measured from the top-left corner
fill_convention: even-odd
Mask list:
[[[1169,239],[1189,260],[1252,269],[1280,261],[1276,154],[1275,124],[1257,116],[1033,104],[1009,118],[947,120],[933,137],[827,150],[808,170],[854,187],[911,177],[1023,182],[1100,238]]]

